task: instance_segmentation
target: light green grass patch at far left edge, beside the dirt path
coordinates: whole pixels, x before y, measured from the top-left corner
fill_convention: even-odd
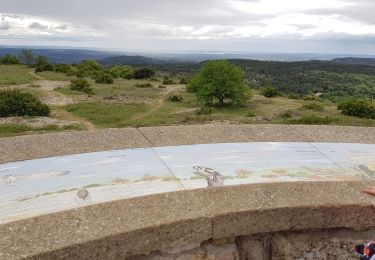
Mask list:
[[[31,83],[37,79],[30,74],[31,71],[22,65],[0,65],[0,86]]]

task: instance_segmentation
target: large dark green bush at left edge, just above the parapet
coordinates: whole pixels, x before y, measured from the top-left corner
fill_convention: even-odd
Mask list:
[[[48,116],[50,109],[29,93],[20,90],[0,91],[0,117]]]

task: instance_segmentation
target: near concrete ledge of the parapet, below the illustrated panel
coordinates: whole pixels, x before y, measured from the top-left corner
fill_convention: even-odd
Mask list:
[[[0,259],[124,259],[211,239],[375,227],[372,198],[361,192],[369,184],[256,184],[88,206],[1,225]]]

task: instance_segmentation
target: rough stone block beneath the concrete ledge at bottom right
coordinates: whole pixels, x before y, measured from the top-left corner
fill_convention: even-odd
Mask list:
[[[274,234],[272,260],[358,260],[355,245],[373,239],[375,229]]]

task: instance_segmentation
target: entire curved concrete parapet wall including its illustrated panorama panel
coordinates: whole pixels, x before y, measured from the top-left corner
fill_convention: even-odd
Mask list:
[[[354,257],[353,245],[375,231],[372,199],[361,192],[375,185],[375,132],[324,129],[207,125],[0,139],[0,259]],[[337,144],[313,142],[333,137]],[[276,140],[287,143],[237,143]],[[132,147],[146,148],[112,150]],[[112,151],[74,155],[101,150]]]

